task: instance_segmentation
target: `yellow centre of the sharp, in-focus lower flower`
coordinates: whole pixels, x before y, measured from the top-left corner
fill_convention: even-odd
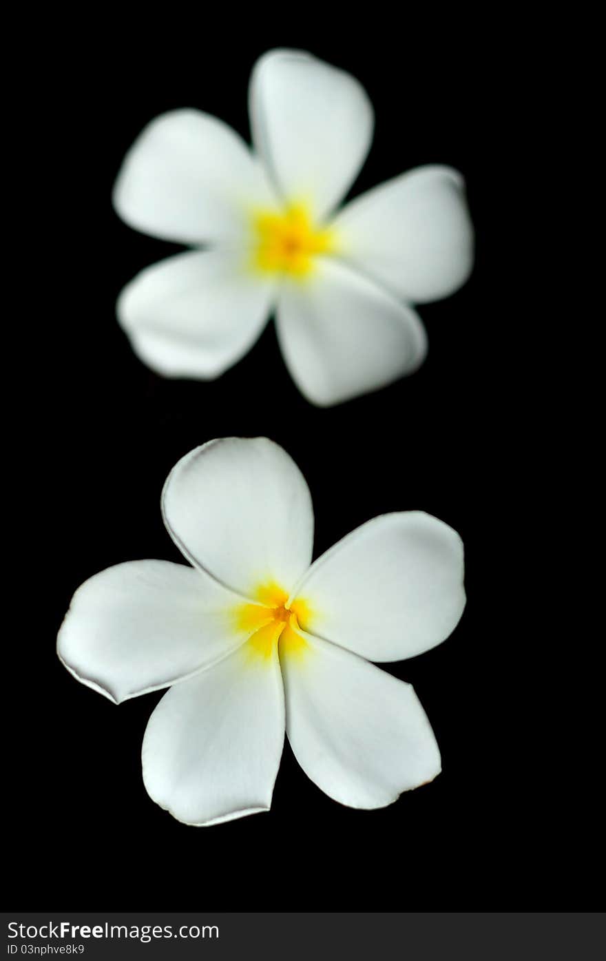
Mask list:
[[[303,598],[287,604],[288,594],[275,583],[261,584],[255,598],[258,604],[238,604],[234,612],[237,628],[251,634],[246,653],[266,659],[276,650],[280,657],[302,656],[307,643],[298,628],[309,620],[309,605]]]

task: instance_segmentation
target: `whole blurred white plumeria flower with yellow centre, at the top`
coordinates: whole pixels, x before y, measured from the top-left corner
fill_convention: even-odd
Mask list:
[[[335,208],[373,137],[350,74],[274,50],[255,64],[255,154],[206,113],[164,113],[135,141],[113,202],[132,227],[205,245],[143,270],[118,319],[168,377],[218,377],[269,315],[303,395],[320,406],[375,390],[423,361],[411,304],[448,296],[472,268],[463,179],[424,166]]]

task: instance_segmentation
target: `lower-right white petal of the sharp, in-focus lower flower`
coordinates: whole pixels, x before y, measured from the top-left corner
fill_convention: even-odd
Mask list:
[[[440,752],[412,686],[304,635],[280,658],[286,732],[305,774],[350,807],[384,807],[440,773]]]

